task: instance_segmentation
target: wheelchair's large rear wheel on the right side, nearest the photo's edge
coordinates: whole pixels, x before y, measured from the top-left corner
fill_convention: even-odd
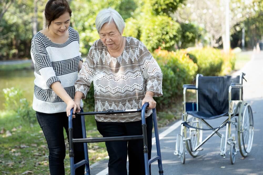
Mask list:
[[[237,137],[240,153],[243,157],[251,151],[254,136],[254,119],[252,109],[249,104],[243,102],[240,107]]]

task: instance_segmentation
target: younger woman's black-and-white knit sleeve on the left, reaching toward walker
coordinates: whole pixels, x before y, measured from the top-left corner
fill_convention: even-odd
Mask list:
[[[51,84],[54,82],[60,82],[45,49],[45,41],[43,38],[35,37],[32,39],[31,57],[34,62],[35,71],[43,77],[49,88],[51,88]]]

